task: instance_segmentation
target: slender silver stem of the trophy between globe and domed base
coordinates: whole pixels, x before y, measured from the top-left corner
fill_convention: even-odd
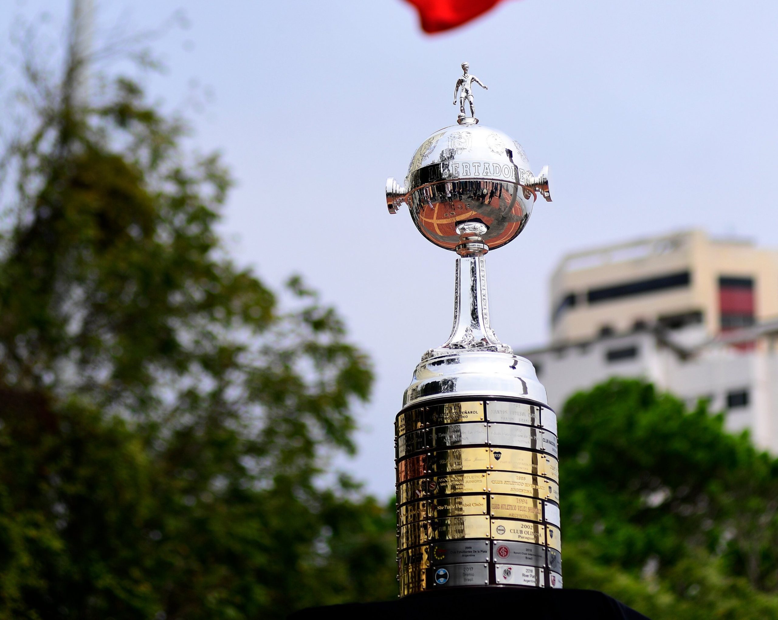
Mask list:
[[[428,352],[439,355],[447,350],[478,350],[513,353],[499,341],[489,324],[489,294],[486,289],[484,256],[460,256],[454,285],[454,325],[443,346]]]

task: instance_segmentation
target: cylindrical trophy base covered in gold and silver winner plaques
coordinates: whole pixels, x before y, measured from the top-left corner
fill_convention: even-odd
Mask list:
[[[400,596],[440,587],[561,587],[556,416],[504,400],[401,412]]]

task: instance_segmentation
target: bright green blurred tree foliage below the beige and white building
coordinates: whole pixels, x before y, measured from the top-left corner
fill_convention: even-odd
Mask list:
[[[778,461],[723,415],[613,379],[568,400],[559,446],[566,587],[654,620],[778,618]]]

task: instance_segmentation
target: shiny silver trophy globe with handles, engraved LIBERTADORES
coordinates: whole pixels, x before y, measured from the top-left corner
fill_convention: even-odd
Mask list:
[[[478,222],[483,242],[496,249],[524,229],[538,193],[551,200],[548,167],[534,176],[517,141],[475,118],[459,123],[422,142],[404,186],[387,179],[387,207],[397,213],[408,204],[416,228],[436,246],[455,250],[461,225]]]

